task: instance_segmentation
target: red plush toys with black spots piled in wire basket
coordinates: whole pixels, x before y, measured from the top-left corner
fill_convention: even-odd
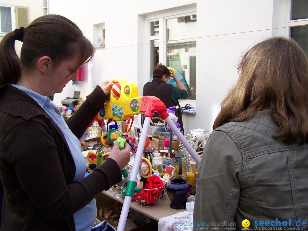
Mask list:
[[[139,196],[141,197],[141,202],[144,204],[156,203],[160,198],[160,194],[163,191],[164,182],[159,176],[152,175],[147,179],[145,186],[141,189]],[[162,187],[162,188],[160,188]],[[159,188],[159,189],[158,189]],[[151,190],[152,189],[152,190]]]

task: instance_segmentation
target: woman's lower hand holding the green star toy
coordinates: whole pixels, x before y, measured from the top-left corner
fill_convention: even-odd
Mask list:
[[[114,159],[119,164],[120,169],[123,169],[130,160],[130,154],[131,146],[128,143],[124,144],[124,148],[120,148],[119,142],[115,141],[108,158]]]

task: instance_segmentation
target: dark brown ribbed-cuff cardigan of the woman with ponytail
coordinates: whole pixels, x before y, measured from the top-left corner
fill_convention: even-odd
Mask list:
[[[103,108],[99,86],[68,119],[79,139]],[[73,213],[122,179],[118,164],[107,159],[80,181],[60,128],[29,95],[0,89],[0,177],[5,196],[1,230],[75,230]]]

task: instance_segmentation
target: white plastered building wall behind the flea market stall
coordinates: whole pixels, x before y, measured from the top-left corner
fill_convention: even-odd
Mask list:
[[[24,5],[22,2],[25,1],[20,0],[18,4]],[[37,8],[37,5],[32,7]],[[106,46],[96,49],[92,69],[94,84],[103,79],[122,78],[137,83],[142,95],[143,85],[149,79],[148,45],[140,45],[148,43],[144,18],[152,12],[185,8],[185,5],[197,10],[198,39],[197,113],[183,115],[184,130],[189,133],[190,129],[200,127],[212,131],[219,105],[238,78],[236,66],[242,55],[261,40],[279,35],[277,30],[265,30],[281,22],[278,0],[50,0],[48,14],[70,18],[93,42],[97,39],[93,36],[93,25],[104,22]],[[31,18],[34,15],[39,16],[39,13],[32,13]],[[74,91],[81,91],[81,97],[85,98],[93,90],[88,89],[86,80],[67,84],[62,93],[55,95],[55,103],[60,105],[61,100],[72,97]]]

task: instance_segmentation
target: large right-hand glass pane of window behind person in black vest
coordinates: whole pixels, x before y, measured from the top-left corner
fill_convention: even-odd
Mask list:
[[[187,99],[196,99],[197,15],[169,18],[166,23],[167,66],[180,72],[186,83]]]

